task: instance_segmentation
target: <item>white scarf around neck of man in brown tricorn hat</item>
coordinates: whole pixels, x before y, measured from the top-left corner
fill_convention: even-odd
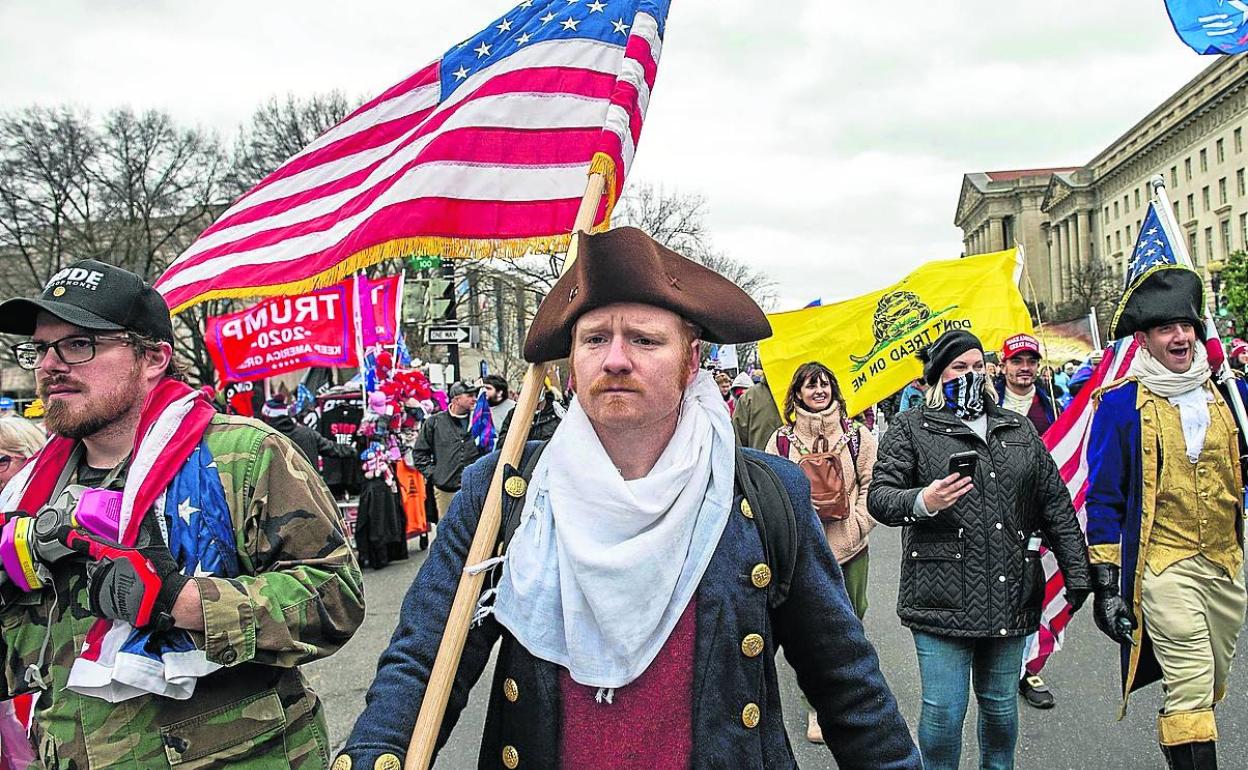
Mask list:
[[[733,503],[735,442],[699,372],[654,468],[624,480],[574,399],[529,480],[494,616],[579,684],[620,688],[650,665],[693,598]]]

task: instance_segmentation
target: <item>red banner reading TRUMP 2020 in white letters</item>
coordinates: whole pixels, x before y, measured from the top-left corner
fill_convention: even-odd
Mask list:
[[[221,383],[263,379],[313,366],[357,366],[351,281],[297,297],[273,297],[205,323]]]

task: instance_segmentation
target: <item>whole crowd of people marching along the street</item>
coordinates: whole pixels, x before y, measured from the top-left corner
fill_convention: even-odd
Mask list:
[[[1217,766],[1248,603],[1228,388],[1248,391],[1212,377],[1194,273],[1154,271],[1119,305],[1114,337],[1138,349],[1096,393],[1085,533],[1041,437],[1098,356],[1055,372],[1031,334],[986,351],[950,331],[861,414],[817,361],[776,403],[761,371],[700,368],[703,342],[770,333],[740,288],[635,228],[579,238],[525,342],[570,377],[538,399],[485,564],[468,548],[515,417],[505,379],[441,391],[378,357],[353,422],[313,429],[314,399],[285,393],[257,422],[185,383],[168,308],[124,270],[84,261],[90,281],[0,305],[46,408],[39,426],[0,399],[2,761],[329,768],[298,666],[363,621],[361,565],[419,537],[428,558],[334,770],[402,764],[468,570],[489,589],[438,744],[498,645],[483,764],[792,766],[782,649],[806,738],[839,766],[958,768],[973,693],[978,766],[1013,768],[1020,695],[1056,705],[1023,659],[1042,548],[1071,610],[1092,597],[1119,645],[1122,709],[1161,679],[1168,766]],[[361,477],[353,538],[331,463]],[[917,745],[862,626],[877,525],[901,530]]]

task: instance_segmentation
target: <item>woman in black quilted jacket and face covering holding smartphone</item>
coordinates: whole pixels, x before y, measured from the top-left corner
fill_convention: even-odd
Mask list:
[[[1036,429],[996,406],[978,338],[945,332],[920,359],[925,404],[885,433],[867,494],[877,522],[902,528],[897,615],[919,655],[919,748],[927,770],[957,769],[973,679],[978,766],[1008,770],[1023,643],[1045,593],[1041,539],[1075,609],[1091,589],[1087,545]]]

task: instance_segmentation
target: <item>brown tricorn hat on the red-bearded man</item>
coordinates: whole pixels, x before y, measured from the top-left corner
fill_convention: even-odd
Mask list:
[[[579,233],[577,261],[542,301],[525,361],[538,363],[572,352],[572,327],[592,309],[638,302],[696,323],[706,342],[730,344],[771,336],[763,308],[735,283],[655,242],[636,227]]]

